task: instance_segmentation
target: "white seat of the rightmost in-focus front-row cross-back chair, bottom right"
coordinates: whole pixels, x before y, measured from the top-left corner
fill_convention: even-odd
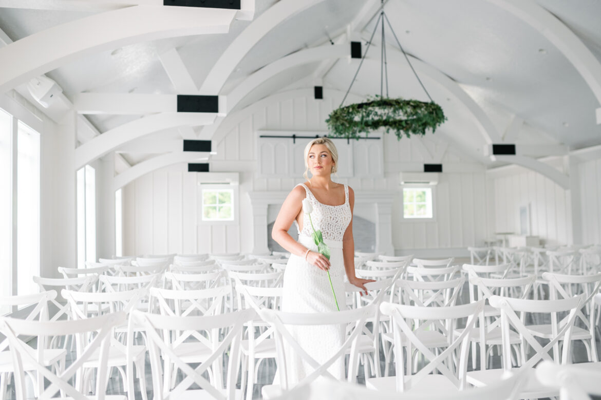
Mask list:
[[[523,378],[523,386],[519,392],[518,398],[520,399],[536,399],[542,397],[555,397],[559,395],[558,389],[545,386],[538,381],[534,368],[526,370],[512,368],[509,371],[513,372],[514,374],[525,374],[525,377]],[[468,372],[466,381],[469,384],[478,387],[487,386],[489,384],[498,382],[504,372],[505,370],[502,368],[486,369],[484,371],[471,371]]]

